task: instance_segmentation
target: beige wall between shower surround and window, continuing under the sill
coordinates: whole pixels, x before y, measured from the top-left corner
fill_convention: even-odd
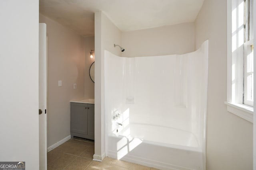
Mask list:
[[[207,170],[252,170],[252,123],[227,111],[227,2],[205,0],[195,21],[196,49],[209,39]]]

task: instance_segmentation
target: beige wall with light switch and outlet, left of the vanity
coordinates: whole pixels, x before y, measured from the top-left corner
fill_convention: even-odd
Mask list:
[[[70,135],[70,99],[84,97],[84,42],[59,23],[40,14],[48,36],[47,145]],[[62,86],[58,86],[62,80]],[[77,88],[73,89],[73,84]]]

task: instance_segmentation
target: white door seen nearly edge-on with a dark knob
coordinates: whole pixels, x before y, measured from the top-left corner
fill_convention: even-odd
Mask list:
[[[39,169],[47,170],[47,39],[46,24],[39,23]],[[41,110],[41,111],[40,111]]]

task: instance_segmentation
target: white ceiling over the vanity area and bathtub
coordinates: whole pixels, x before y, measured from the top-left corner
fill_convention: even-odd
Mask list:
[[[121,30],[132,31],[192,22],[204,0],[40,0],[40,13],[88,37],[94,12],[103,11]]]

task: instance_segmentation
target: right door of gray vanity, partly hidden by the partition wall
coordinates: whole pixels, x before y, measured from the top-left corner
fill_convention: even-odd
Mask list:
[[[94,140],[94,104],[88,104],[88,136]]]

